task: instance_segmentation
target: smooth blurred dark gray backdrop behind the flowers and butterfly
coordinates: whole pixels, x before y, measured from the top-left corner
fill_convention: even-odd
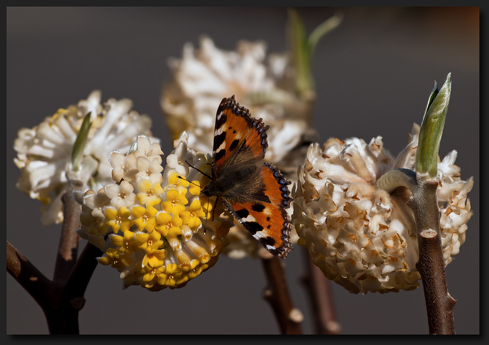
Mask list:
[[[446,267],[448,290],[457,299],[458,334],[479,333],[479,8],[298,8],[308,32],[336,10],[344,19],[314,53],[317,90],[314,124],[321,142],[330,137],[381,135],[397,155],[413,122],[421,124],[436,80],[452,72],[452,94],[440,156],[455,149],[474,215],[461,252]],[[61,226],[43,227],[41,203],[15,187],[20,175],[13,142],[58,108],[76,104],[94,89],[102,101],[130,98],[133,109],[153,119],[162,149],[171,140],[159,107],[170,79],[169,57],[183,44],[199,46],[201,34],[232,50],[238,40],[264,40],[267,52],[286,49],[285,7],[7,7],[7,240],[52,277]],[[81,241],[81,246],[85,241]],[[286,271],[304,333],[313,333],[311,308],[300,278],[302,248],[295,246]],[[116,270],[99,266],[80,312],[82,334],[277,334],[259,260],[217,264],[182,289],[159,293],[138,286],[122,290]],[[344,334],[426,334],[422,288],[386,295],[353,295],[333,283]],[[6,333],[44,334],[41,308],[6,273]]]

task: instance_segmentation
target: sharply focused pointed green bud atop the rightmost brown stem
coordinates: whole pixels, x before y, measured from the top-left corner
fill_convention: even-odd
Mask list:
[[[421,124],[418,149],[416,151],[416,172],[428,173],[430,178],[436,176],[438,167],[438,150],[445,125],[446,111],[450,100],[451,73],[445,78],[440,91],[435,82]]]

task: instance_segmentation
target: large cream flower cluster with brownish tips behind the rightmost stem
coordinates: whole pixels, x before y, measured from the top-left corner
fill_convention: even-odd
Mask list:
[[[310,146],[298,172],[293,223],[298,244],[308,248],[314,264],[352,293],[397,292],[419,287],[419,258],[414,215],[406,195],[376,189],[394,168],[414,169],[419,126],[394,159],[381,137],[329,139]],[[456,151],[438,163],[438,202],[445,265],[465,242],[473,178],[462,181],[454,164]]]

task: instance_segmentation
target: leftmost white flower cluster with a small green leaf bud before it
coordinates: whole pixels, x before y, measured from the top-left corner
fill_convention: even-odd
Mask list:
[[[66,173],[71,170],[73,144],[85,115],[91,114],[92,125],[77,173],[85,190],[98,190],[112,182],[109,152],[125,152],[137,135],[152,135],[151,118],[131,111],[131,100],[111,98],[104,104],[100,100],[99,91],[91,92],[78,105],[59,109],[33,128],[22,128],[14,142],[14,161],[21,169],[17,187],[44,203],[41,220],[45,225],[63,221],[61,196],[66,189]],[[158,141],[153,137],[151,140]]]

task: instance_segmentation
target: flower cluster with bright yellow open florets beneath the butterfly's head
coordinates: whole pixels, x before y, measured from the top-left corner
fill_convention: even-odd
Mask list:
[[[99,262],[117,269],[126,287],[183,287],[213,266],[228,243],[232,222],[200,197],[208,179],[196,169],[210,173],[207,156],[187,148],[186,133],[174,146],[162,174],[159,144],[141,136],[127,155],[112,152],[116,184],[75,195],[80,237],[105,253]]]

